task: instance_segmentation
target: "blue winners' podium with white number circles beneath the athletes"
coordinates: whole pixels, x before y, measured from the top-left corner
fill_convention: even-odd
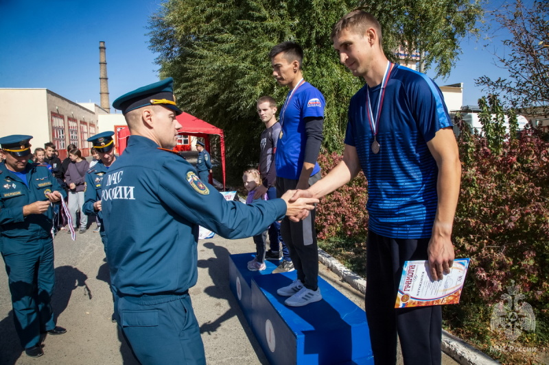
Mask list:
[[[270,364],[373,364],[362,308],[320,277],[321,301],[287,307],[277,289],[292,283],[295,271],[272,274],[276,266],[268,262],[266,270],[251,272],[243,265],[250,257],[230,256],[231,290]]]

